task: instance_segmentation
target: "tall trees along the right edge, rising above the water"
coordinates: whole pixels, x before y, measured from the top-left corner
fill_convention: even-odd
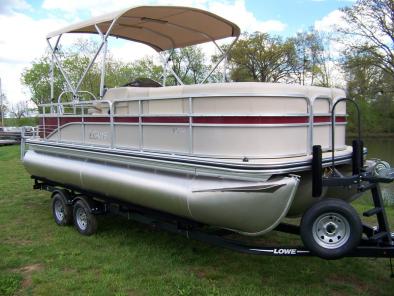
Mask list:
[[[357,101],[366,133],[394,132],[394,2],[359,0],[345,8],[347,27],[339,28],[345,44],[343,66],[348,96]],[[355,131],[349,108],[349,131]]]

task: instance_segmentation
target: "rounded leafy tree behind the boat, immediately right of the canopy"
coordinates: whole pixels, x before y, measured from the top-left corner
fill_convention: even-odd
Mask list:
[[[296,69],[294,43],[266,33],[244,34],[229,54],[235,81],[288,82]]]

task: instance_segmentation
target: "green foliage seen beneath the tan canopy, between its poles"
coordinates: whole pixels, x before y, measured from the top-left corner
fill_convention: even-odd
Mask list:
[[[95,47],[97,47],[97,44],[78,41],[68,50],[61,51],[59,49],[63,70],[73,87],[77,86],[85,69],[89,65]],[[171,54],[171,67],[184,84],[198,83],[208,73],[205,56],[201,48],[198,47],[186,47],[174,50]],[[37,106],[51,101],[50,73],[51,59],[48,55],[34,61],[31,67],[25,69],[22,73],[22,84],[28,88],[31,93],[31,100]],[[108,88],[122,86],[141,77],[147,77],[161,82],[162,76],[163,67],[157,65],[152,58],[146,57],[133,63],[124,63],[115,60],[110,53],[107,55],[105,86]],[[89,91],[98,97],[100,79],[100,65],[94,63],[82,80],[79,89]],[[170,72],[168,72],[166,84],[177,84],[175,77]],[[54,96],[52,99],[56,101],[64,90],[69,89],[60,70],[54,67]],[[85,97],[89,100],[92,99],[89,95],[85,95]],[[62,101],[69,101],[71,99],[70,92],[62,96]]]

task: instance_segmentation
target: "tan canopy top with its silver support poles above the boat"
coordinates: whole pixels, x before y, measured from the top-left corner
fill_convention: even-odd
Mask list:
[[[60,59],[57,56],[60,38],[62,34],[65,33],[91,33],[98,34],[101,37],[101,43],[97,52],[91,59],[75,87],[65,73]],[[164,64],[164,84],[167,70],[174,75],[178,83],[183,84],[171,67],[167,66],[170,59],[169,56],[165,56],[165,53],[163,53],[164,51],[209,41],[213,42],[222,55],[218,59],[218,62],[212,67],[210,73],[200,82],[204,83],[218,65],[225,60],[232,45],[238,40],[239,35],[239,27],[224,18],[201,9],[180,6],[139,6],[123,9],[68,26],[47,35],[47,42],[52,51],[51,99],[52,101],[54,99],[53,67],[55,64],[64,76],[68,88],[76,98],[78,97],[79,88],[86,73],[90,70],[101,51],[103,51],[103,59],[100,97],[103,96],[105,58],[107,52],[107,39],[109,36],[140,42],[154,48],[157,52],[161,53],[160,57]],[[50,41],[53,37],[57,37],[54,44]],[[235,39],[228,50],[224,52],[215,41],[227,37],[234,37]],[[223,77],[225,79],[225,74]]]

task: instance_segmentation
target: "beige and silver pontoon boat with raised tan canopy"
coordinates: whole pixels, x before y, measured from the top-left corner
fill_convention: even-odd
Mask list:
[[[61,36],[67,33],[101,36],[84,75],[100,53],[105,58],[108,38],[114,36],[146,44],[159,53],[165,69],[162,85],[146,80],[142,86],[132,83],[105,90],[104,62],[100,96],[90,94],[91,100],[81,100],[84,77],[72,85],[57,54]],[[70,222],[73,216],[78,230],[90,234],[95,229],[87,212],[97,210],[95,205],[101,201],[116,201],[121,207],[151,209],[261,235],[278,227],[285,217],[302,216],[323,200],[350,202],[360,195],[359,182],[323,185],[314,192],[312,186],[317,145],[323,177],[333,173],[333,162],[335,171],[352,174],[355,157],[345,143],[343,90],[225,82],[225,67],[222,82],[206,83],[207,76],[200,84],[184,85],[168,65],[167,53],[173,49],[205,42],[217,45],[223,38],[235,42],[239,34],[237,25],[207,11],[141,6],[48,35],[53,67],[65,76],[67,90],[56,102],[52,83],[54,102],[41,106],[39,134],[27,140],[23,163],[37,184],[44,184],[40,188],[63,188],[55,191],[53,201],[58,224]],[[222,56],[210,74],[226,60],[227,52],[219,46],[218,50]],[[169,75],[178,85],[165,85]],[[63,100],[67,92],[72,101]],[[358,155],[363,153],[361,147]],[[369,171],[377,165],[369,164]],[[352,224],[346,213],[335,209],[326,216],[322,213],[316,222],[321,229],[313,228],[320,235],[315,244],[325,250],[341,249],[353,235],[361,237],[361,223],[354,226],[357,221]],[[349,248],[353,247],[352,242]]]

